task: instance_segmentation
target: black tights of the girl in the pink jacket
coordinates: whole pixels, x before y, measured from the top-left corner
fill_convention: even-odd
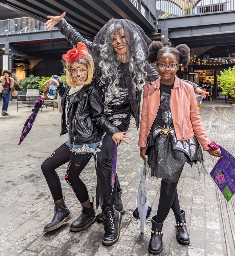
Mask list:
[[[177,182],[167,183],[164,180],[161,182],[160,198],[157,208],[157,216],[155,221],[162,223],[165,221],[170,209],[175,214],[181,214],[179,198],[177,193]]]

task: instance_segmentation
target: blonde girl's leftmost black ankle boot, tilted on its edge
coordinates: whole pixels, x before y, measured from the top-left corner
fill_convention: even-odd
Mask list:
[[[73,215],[70,213],[69,208],[66,206],[65,202],[63,204],[56,204],[54,206],[54,216],[51,223],[48,223],[43,232],[49,232],[59,228],[63,223],[72,219]]]

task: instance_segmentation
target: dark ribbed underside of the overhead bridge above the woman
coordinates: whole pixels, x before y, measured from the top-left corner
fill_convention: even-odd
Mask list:
[[[141,3],[146,17],[133,5],[135,1]],[[155,0],[149,1],[155,4]],[[156,30],[153,10],[148,9],[144,0],[5,0],[4,4],[44,22],[47,20],[46,15],[61,15],[65,11],[66,20],[89,38],[93,38],[110,18],[131,19],[147,33]]]

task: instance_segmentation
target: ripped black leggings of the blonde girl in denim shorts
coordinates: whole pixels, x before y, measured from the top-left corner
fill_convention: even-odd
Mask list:
[[[87,187],[79,175],[88,164],[91,155],[92,153],[74,154],[64,143],[47,157],[41,168],[54,201],[63,197],[60,178],[55,169],[67,162],[69,164],[65,174],[66,182],[71,186],[80,203],[84,203],[89,199]]]

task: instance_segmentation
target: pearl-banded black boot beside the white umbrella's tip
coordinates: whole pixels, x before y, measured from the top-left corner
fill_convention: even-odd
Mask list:
[[[151,238],[148,244],[148,251],[151,254],[158,254],[162,250],[162,226],[163,223],[155,222],[156,215],[152,218]]]

